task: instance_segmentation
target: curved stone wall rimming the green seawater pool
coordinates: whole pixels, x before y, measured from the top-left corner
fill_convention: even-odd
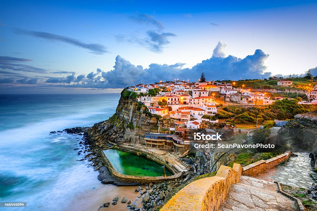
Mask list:
[[[162,161],[162,158],[159,158],[158,156],[155,156],[155,155],[152,155],[152,154],[146,154],[145,152],[142,152],[140,150],[135,150],[134,152],[131,151],[131,149],[129,148],[128,149],[124,149],[124,148],[121,148],[121,147],[118,147],[118,146],[115,146],[113,147],[114,149],[117,149],[117,150],[121,150],[121,151],[124,151],[124,152],[130,152],[130,153],[135,153],[135,154],[138,154],[138,153],[142,153],[143,156],[145,156],[146,158],[149,158],[159,164],[165,164],[163,163]],[[140,152],[138,152],[140,151]],[[138,155],[141,155],[141,154],[138,154]],[[101,159],[102,161],[104,162],[104,164],[106,164],[110,174],[115,177],[116,179],[122,181],[122,182],[128,182],[128,183],[132,183],[132,182],[137,182],[137,183],[141,183],[141,184],[148,184],[148,183],[161,183],[161,182],[164,182],[164,181],[169,181],[169,180],[175,180],[175,179],[178,179],[179,177],[182,177],[183,176],[183,173],[184,172],[176,172],[177,169],[175,167],[173,167],[172,165],[168,165],[168,164],[165,164],[165,166],[171,170],[174,175],[172,176],[169,176],[169,177],[164,177],[164,176],[160,176],[160,177],[140,177],[140,176],[131,176],[131,175],[124,175],[124,174],[120,174],[119,172],[117,172],[111,162],[108,160],[107,156],[105,155],[105,153],[103,151],[100,151],[100,156],[101,156]],[[171,168],[172,167],[172,168]]]

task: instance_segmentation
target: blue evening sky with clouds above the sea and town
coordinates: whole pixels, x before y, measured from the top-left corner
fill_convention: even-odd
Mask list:
[[[316,76],[316,11],[316,0],[2,0],[0,93]]]

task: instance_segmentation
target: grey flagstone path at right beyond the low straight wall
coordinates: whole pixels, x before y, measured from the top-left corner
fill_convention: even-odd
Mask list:
[[[290,156],[288,162],[260,173],[254,178],[302,188],[310,187],[314,181],[309,175],[315,174],[315,172],[310,165],[309,153],[297,152],[294,154],[297,154],[298,157]]]

